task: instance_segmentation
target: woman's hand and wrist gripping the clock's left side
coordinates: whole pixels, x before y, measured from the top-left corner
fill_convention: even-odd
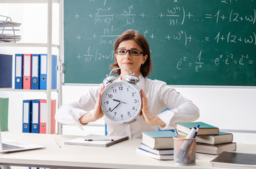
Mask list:
[[[104,88],[105,86],[100,87],[100,92],[98,94],[98,99],[96,101],[93,113],[85,113],[81,118],[79,118],[81,124],[86,125],[103,117],[104,114],[100,107],[100,98]]]

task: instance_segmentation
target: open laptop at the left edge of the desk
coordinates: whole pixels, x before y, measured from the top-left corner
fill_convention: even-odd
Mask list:
[[[13,151],[25,151],[30,149],[41,149],[45,146],[39,144],[30,144],[25,142],[19,142],[16,140],[8,140],[2,142],[1,129],[0,129],[0,153],[7,153]]]

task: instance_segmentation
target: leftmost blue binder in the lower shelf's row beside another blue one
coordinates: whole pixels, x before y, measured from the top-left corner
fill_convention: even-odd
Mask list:
[[[31,101],[30,100],[23,100],[22,132],[31,132]]]

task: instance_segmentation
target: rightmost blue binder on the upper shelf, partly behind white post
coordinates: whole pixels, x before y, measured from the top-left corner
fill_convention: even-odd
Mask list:
[[[57,89],[57,55],[52,55],[52,89]],[[47,89],[47,54],[40,54],[40,89]]]

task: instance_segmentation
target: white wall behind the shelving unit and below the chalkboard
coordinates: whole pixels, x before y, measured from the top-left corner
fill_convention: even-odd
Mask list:
[[[54,5],[54,33],[53,43],[57,44],[58,39],[58,6]],[[47,42],[47,5],[46,4],[1,4],[0,15],[11,16],[14,22],[22,23],[21,42]],[[44,53],[45,48],[0,48],[0,53]],[[53,51],[56,52],[57,51]],[[74,101],[87,87],[64,86],[63,103]],[[194,88],[176,87],[176,89],[191,99],[200,109],[199,121],[204,121],[222,129],[231,130],[256,130],[256,89],[231,89],[231,88]],[[46,95],[41,93],[40,97]],[[38,99],[38,93],[27,92],[0,92],[0,97],[10,98],[9,128],[10,130],[21,131],[22,123],[22,100]],[[104,124],[98,120],[95,124]],[[80,131],[76,127],[64,126],[64,134],[87,134],[94,132],[104,134],[104,127],[84,127],[86,131]],[[248,139],[249,138],[249,139]],[[234,133],[235,142],[256,142],[256,133],[243,134]]]

